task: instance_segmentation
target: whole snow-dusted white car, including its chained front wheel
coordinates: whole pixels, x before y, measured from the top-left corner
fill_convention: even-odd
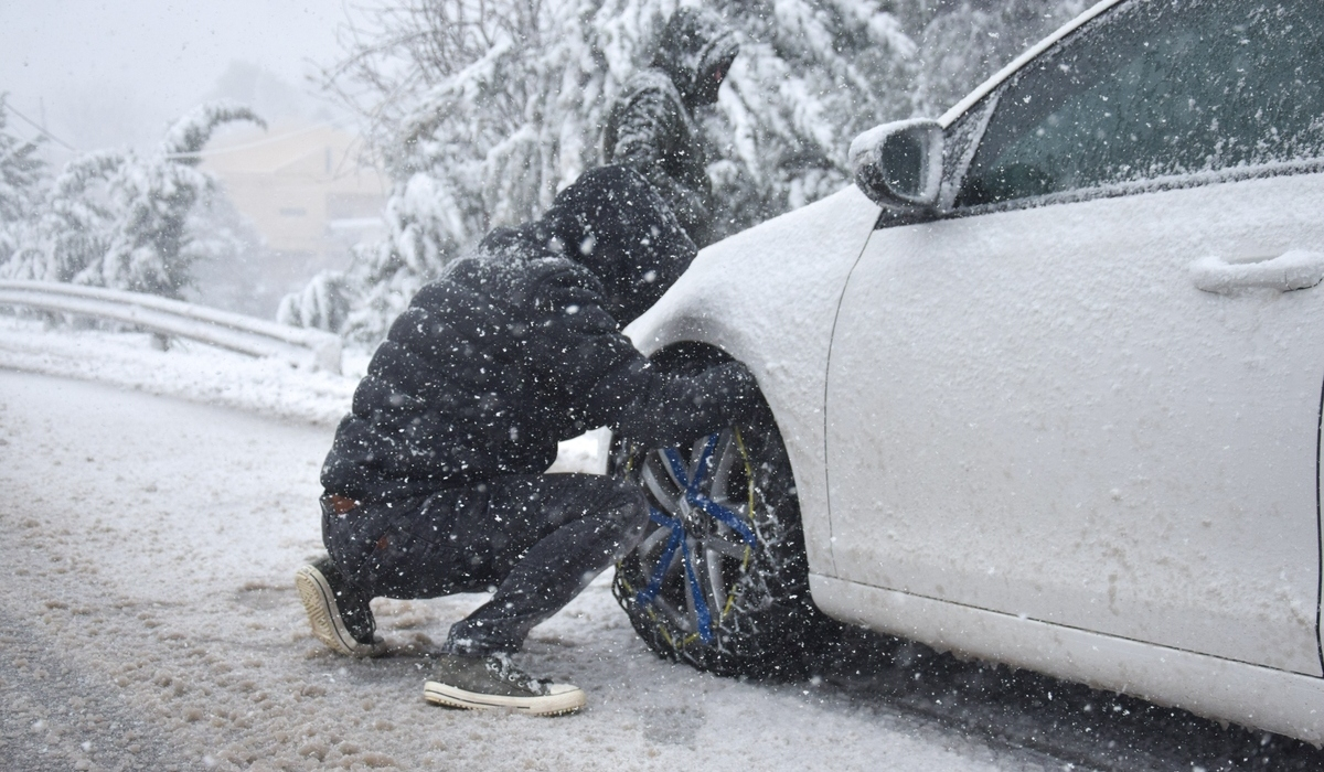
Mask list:
[[[629,334],[768,410],[616,453],[649,645],[793,670],[821,609],[1324,743],[1321,70],[1317,0],[1106,0],[706,249]]]

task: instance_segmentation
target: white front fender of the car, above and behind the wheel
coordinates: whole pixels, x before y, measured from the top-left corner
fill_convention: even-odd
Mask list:
[[[626,335],[647,355],[712,344],[763,389],[796,474],[809,564],[831,573],[824,387],[837,303],[879,208],[855,187],[706,248]]]

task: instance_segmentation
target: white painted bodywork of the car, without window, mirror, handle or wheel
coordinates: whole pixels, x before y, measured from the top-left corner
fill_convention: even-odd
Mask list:
[[[977,142],[1004,82],[1119,3],[940,123]],[[843,191],[708,248],[629,332],[755,371],[830,616],[1320,744],[1324,286],[1213,295],[1192,264],[1324,252],[1321,172],[1237,166],[891,218],[862,248],[878,208]]]

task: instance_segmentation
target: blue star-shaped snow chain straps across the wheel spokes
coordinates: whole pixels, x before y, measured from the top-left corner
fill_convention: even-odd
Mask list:
[[[740,519],[740,515],[732,512],[699,491],[699,486],[703,485],[703,481],[707,477],[708,466],[712,459],[712,450],[716,445],[718,436],[710,434],[708,441],[703,445],[703,452],[699,453],[699,463],[694,471],[694,479],[690,479],[690,475],[685,470],[685,461],[674,448],[662,450],[662,456],[666,458],[667,466],[671,467],[671,475],[675,477],[677,483],[685,489],[686,503],[706,512],[708,516],[727,526],[736,534],[740,534],[740,539],[743,539],[745,544],[755,547],[757,544],[757,539],[755,538],[753,531],[749,530],[749,526]],[[708,601],[703,597],[703,589],[699,587],[699,576],[694,571],[694,559],[690,556],[690,547],[685,540],[685,523],[682,523],[679,518],[666,516],[662,511],[654,507],[649,507],[649,519],[665,528],[670,528],[671,536],[667,538],[666,548],[662,550],[662,556],[658,557],[658,564],[653,569],[653,576],[649,577],[649,585],[639,591],[636,600],[639,605],[649,605],[654,599],[657,599],[658,592],[662,589],[662,579],[666,575],[666,569],[671,565],[671,560],[675,557],[675,551],[679,548],[682,561],[685,563],[685,579],[690,585],[690,596],[694,599],[694,612],[699,622],[699,638],[704,644],[711,644],[712,612],[708,610]]]

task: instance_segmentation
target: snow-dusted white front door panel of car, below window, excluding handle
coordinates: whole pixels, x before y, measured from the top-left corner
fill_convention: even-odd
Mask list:
[[[1162,212],[1155,217],[1153,212]],[[828,388],[837,576],[1320,675],[1324,175],[878,230]]]

